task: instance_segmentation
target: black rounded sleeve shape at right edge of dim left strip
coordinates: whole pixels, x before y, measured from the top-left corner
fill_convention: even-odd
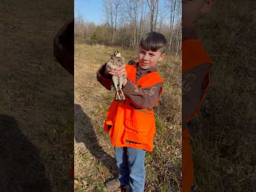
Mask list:
[[[74,20],[67,22],[55,36],[53,54],[60,65],[74,75]]]

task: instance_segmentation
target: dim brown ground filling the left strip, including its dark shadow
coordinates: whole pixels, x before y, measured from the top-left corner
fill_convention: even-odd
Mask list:
[[[53,38],[73,3],[0,4],[1,191],[70,191],[74,78],[55,60]]]

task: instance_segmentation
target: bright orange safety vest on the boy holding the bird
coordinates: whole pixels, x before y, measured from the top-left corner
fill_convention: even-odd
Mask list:
[[[142,89],[163,82],[157,72],[152,72],[141,77],[135,83],[136,66],[126,65],[125,68],[126,76],[130,81]],[[161,93],[162,89],[159,91],[160,95]],[[121,102],[113,100],[106,116],[104,130],[109,134],[112,146],[153,151],[153,140],[156,133],[154,110],[138,108],[129,97],[126,97],[126,100]]]

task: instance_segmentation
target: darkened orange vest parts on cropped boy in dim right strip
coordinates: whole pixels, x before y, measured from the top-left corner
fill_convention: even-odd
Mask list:
[[[211,66],[212,60],[205,52],[201,42],[197,39],[188,39],[182,42],[182,73],[187,72],[203,63],[209,63]],[[194,114],[186,120],[186,123],[193,119],[198,113],[207,87],[210,83],[209,73],[205,76],[202,98],[198,103]],[[190,191],[194,182],[193,159],[190,149],[190,134],[187,129],[182,129],[182,192]]]

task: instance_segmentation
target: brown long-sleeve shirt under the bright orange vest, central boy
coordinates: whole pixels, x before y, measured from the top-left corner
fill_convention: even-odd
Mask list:
[[[101,85],[103,85],[107,90],[113,90],[113,82],[111,79],[111,75],[105,75],[106,63],[103,64],[99,70],[97,71],[97,79]],[[136,79],[137,82],[140,77],[155,72],[157,69],[155,67],[149,69],[141,69],[139,67],[139,63],[136,64]],[[129,97],[132,102],[136,105],[136,107],[140,108],[148,108],[151,109],[154,107],[154,103],[159,98],[159,92],[162,89],[163,83],[157,83],[153,86],[144,87],[137,87],[134,83],[130,81],[127,77],[127,83],[123,87],[122,91],[124,94]]]

